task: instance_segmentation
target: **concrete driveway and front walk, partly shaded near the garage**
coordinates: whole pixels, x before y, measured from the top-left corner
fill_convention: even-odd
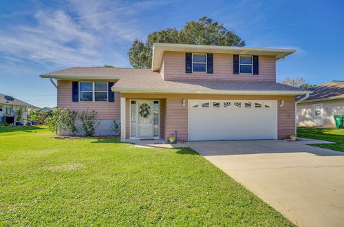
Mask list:
[[[298,226],[344,226],[344,153],[298,142],[187,142]],[[149,144],[140,147],[171,147]]]

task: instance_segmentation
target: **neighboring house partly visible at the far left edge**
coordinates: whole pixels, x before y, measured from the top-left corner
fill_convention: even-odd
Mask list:
[[[25,125],[28,120],[28,109],[39,109],[39,107],[30,105],[29,103],[23,102],[17,98],[7,100],[5,96],[5,94],[0,94],[0,123],[3,123],[6,120],[6,122],[15,124],[17,122],[17,112],[21,109],[23,111],[23,115],[20,123]]]

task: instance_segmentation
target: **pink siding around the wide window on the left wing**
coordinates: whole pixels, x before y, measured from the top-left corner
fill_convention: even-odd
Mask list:
[[[115,102],[72,102],[72,81],[57,81],[57,106],[79,111],[95,110],[99,119],[120,119],[120,92],[115,92]]]

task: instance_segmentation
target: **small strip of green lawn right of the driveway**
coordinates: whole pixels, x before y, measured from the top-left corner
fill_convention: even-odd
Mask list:
[[[315,147],[344,152],[344,129],[297,127],[297,136],[316,140],[328,140],[335,144],[311,144]]]

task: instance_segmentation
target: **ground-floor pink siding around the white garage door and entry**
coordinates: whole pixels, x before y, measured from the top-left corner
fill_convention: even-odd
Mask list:
[[[204,96],[204,95],[169,95],[169,94],[122,94],[122,97],[150,99],[150,98],[166,98],[166,111],[164,113],[164,133],[160,131],[160,135],[164,134],[165,138],[175,136],[175,131],[178,131],[179,140],[188,139],[188,107],[182,106],[182,99],[228,99],[228,100],[284,100],[286,104],[284,107],[278,107],[278,137],[286,138],[294,134],[294,96]],[[127,108],[129,108],[129,101],[127,100]],[[163,109],[160,105],[160,109]],[[127,138],[129,138],[129,111],[127,115]],[[162,116],[160,116],[162,119]]]

